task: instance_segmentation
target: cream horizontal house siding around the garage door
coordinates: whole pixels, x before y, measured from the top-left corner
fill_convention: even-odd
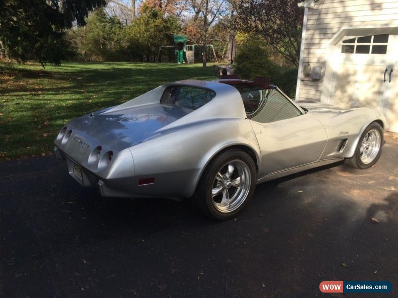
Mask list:
[[[304,76],[302,66],[322,67],[329,41],[344,27],[398,27],[398,0],[318,0],[306,9],[305,36],[296,99],[320,101],[322,82]],[[305,21],[305,18],[304,18]]]

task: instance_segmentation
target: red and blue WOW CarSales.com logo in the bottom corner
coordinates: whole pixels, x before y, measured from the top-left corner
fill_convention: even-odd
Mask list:
[[[322,293],[389,293],[393,288],[390,282],[321,282]]]

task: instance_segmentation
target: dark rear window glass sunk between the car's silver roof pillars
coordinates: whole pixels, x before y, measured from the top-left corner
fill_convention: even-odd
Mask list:
[[[169,86],[160,99],[161,104],[196,110],[208,103],[215,92],[192,86]]]

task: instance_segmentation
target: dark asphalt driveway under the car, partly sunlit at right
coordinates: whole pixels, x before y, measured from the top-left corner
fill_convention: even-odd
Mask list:
[[[4,162],[0,233],[4,298],[320,297],[324,280],[387,280],[397,297],[398,135],[371,169],[259,185],[228,222],[189,202],[101,198],[54,156]]]

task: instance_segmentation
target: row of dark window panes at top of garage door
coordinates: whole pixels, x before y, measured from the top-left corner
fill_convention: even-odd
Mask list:
[[[359,36],[343,40],[343,54],[386,54],[389,34]]]

